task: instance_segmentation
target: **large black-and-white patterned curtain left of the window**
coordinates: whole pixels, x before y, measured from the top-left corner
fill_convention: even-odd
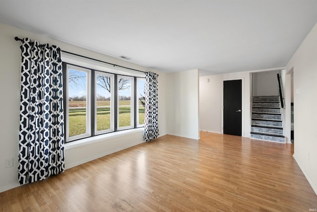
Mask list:
[[[20,184],[64,171],[64,117],[60,49],[21,41]]]

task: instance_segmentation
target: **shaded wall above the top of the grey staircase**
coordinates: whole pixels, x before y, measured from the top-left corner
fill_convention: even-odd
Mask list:
[[[253,96],[278,96],[277,73],[280,71],[263,71],[252,74]]]

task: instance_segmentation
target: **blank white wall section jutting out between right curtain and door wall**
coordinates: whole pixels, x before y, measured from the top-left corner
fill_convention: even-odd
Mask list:
[[[168,74],[167,134],[199,139],[199,70]]]

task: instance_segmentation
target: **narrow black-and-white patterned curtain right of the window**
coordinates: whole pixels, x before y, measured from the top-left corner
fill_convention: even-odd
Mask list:
[[[153,141],[159,136],[158,122],[158,74],[145,73],[145,126],[144,141]]]

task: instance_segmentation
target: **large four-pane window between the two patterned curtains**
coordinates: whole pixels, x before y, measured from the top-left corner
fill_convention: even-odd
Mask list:
[[[143,127],[144,78],[66,63],[63,74],[66,142]]]

